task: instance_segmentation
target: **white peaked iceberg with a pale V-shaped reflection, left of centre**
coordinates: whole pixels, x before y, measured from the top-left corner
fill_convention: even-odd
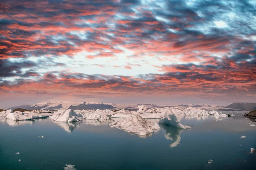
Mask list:
[[[78,122],[82,120],[82,118],[71,109],[55,111],[49,118],[57,122]]]

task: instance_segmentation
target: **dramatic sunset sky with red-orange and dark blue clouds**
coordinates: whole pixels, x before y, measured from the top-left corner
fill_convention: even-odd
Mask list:
[[[0,0],[0,108],[256,102],[256,0]]]

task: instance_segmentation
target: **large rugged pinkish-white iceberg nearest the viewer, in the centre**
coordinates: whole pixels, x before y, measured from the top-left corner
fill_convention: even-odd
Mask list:
[[[147,135],[152,133],[154,129],[160,129],[157,122],[149,122],[140,115],[134,115],[110,124],[111,127],[117,127],[128,133],[137,135]]]

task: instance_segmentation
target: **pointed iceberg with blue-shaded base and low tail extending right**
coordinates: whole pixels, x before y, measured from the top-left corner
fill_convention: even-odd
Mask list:
[[[180,129],[190,129],[191,127],[182,125],[180,123],[180,116],[174,108],[166,110],[165,116],[159,121],[160,124],[166,124],[169,126],[177,127]]]

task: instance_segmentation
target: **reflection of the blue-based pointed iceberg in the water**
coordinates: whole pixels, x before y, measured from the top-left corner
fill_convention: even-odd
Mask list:
[[[183,129],[172,127],[168,125],[162,125],[161,128],[166,130],[166,134],[164,137],[167,140],[171,140],[172,143],[170,144],[170,147],[176,147],[178,144],[180,144],[180,133],[183,132]]]

